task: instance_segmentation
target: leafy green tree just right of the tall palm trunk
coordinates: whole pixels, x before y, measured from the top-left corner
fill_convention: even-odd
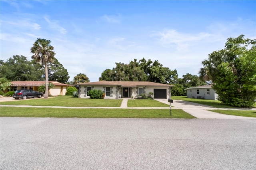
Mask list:
[[[48,73],[49,81],[58,81],[60,83],[66,83],[70,78],[68,76],[67,69],[65,69],[56,58],[54,63],[49,63]]]

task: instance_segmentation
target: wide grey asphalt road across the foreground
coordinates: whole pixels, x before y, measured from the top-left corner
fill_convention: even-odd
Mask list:
[[[252,119],[1,117],[1,169],[256,169]]]

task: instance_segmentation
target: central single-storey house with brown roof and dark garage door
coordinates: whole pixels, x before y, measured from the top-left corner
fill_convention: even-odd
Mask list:
[[[173,87],[173,85],[149,81],[96,81],[76,85],[78,85],[79,98],[90,98],[87,95],[88,91],[96,89],[105,93],[104,99],[130,98],[150,92],[154,93],[155,99],[170,99],[171,87]]]

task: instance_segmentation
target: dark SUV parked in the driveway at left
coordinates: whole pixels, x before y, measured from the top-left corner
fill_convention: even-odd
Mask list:
[[[34,97],[42,97],[43,93],[34,90],[16,90],[12,97],[14,99],[27,99],[27,98],[34,98]]]

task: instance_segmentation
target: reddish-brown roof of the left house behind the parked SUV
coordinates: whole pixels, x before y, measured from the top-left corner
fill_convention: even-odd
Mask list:
[[[44,85],[45,81],[11,81],[11,86],[40,86]],[[48,81],[48,83],[52,83],[55,86],[73,86],[73,85],[67,85],[63,83],[59,83],[58,81]]]

